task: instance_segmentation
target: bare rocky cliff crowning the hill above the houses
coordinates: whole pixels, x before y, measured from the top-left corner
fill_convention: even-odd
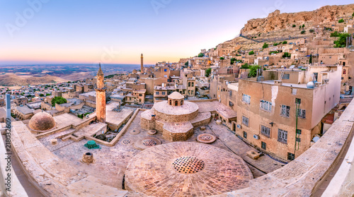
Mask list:
[[[344,6],[324,6],[315,11],[299,13],[280,13],[276,10],[267,18],[251,19],[241,30],[242,35],[258,34],[291,28],[292,25],[322,25],[338,20],[339,17],[352,16],[354,4]],[[308,26],[307,26],[308,27]]]

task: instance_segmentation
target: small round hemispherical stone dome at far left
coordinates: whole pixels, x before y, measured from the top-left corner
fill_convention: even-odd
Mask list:
[[[50,114],[40,112],[30,119],[28,126],[36,131],[47,131],[55,127],[55,120]]]

